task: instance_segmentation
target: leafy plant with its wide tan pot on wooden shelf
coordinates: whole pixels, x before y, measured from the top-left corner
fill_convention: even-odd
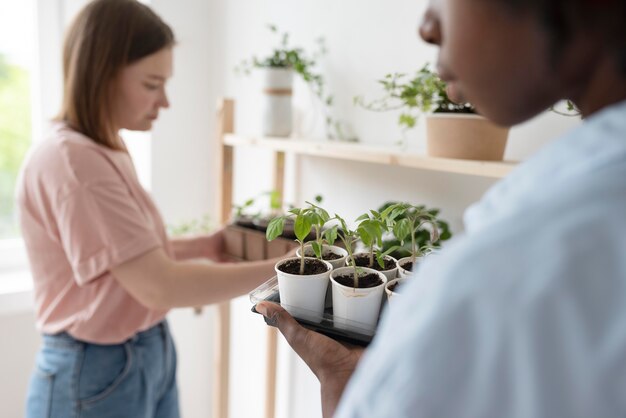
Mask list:
[[[501,161],[508,137],[504,128],[478,115],[469,103],[455,103],[446,93],[446,83],[428,64],[413,77],[388,74],[379,80],[385,96],[355,103],[374,111],[401,110],[398,123],[403,132],[426,116],[427,152],[432,157]]]

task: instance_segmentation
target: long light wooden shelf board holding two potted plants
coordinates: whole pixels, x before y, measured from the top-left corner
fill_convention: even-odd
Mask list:
[[[408,153],[399,147],[381,147],[326,140],[298,138],[256,137],[225,134],[224,145],[255,146],[277,152],[291,152],[349,161],[386,164],[398,167],[433,170],[446,173],[501,178],[515,166],[513,161],[473,161],[451,158],[433,158],[422,154]]]

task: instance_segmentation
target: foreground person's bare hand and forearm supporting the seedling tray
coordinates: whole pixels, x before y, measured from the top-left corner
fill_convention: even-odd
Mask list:
[[[260,302],[256,310],[280,330],[291,348],[317,376],[322,390],[322,413],[324,417],[332,417],[363,348],[348,347],[302,327],[278,304]]]

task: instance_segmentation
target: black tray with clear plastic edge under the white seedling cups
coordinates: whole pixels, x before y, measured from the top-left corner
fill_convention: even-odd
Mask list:
[[[368,329],[368,326],[356,321],[342,319],[342,325],[335,325],[333,308],[330,297],[330,283],[328,285],[327,303],[322,315],[292,306],[284,306],[300,325],[320,334],[324,334],[334,340],[346,342],[353,345],[366,347],[372,341],[375,330]],[[258,313],[256,304],[263,301],[280,303],[280,293],[278,291],[278,278],[272,277],[261,286],[250,292],[250,301],[254,304],[252,312]],[[275,326],[271,320],[264,317],[265,323]]]

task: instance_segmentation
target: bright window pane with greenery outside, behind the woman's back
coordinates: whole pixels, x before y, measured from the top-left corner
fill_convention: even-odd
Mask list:
[[[13,195],[32,136],[34,7],[35,0],[16,1],[0,14],[0,240],[19,236]]]

